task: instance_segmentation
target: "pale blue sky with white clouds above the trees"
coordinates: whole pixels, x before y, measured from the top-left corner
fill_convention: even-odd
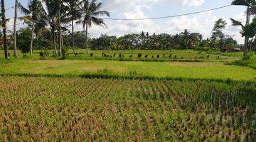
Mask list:
[[[6,9],[14,6],[15,0],[6,1]],[[24,6],[28,0],[19,0]],[[172,16],[181,13],[191,13],[227,6],[232,0],[99,0],[102,1],[102,10],[110,12],[111,18],[151,18],[159,16]],[[21,13],[19,13],[21,15]],[[13,17],[14,9],[7,11],[6,17]],[[191,32],[203,33],[204,37],[210,36],[213,24],[218,18],[224,18],[228,26],[225,33],[232,35],[239,43],[243,42],[240,36],[240,27],[231,26],[230,17],[245,23],[245,7],[230,6],[225,9],[198,13],[192,16],[181,16],[145,21],[110,21],[106,20],[108,28],[92,26],[90,35],[97,37],[100,34],[124,35],[126,33],[180,33],[184,29]],[[9,28],[13,21],[9,22]],[[18,23],[22,23],[19,21]],[[22,27],[23,25],[19,25]],[[82,31],[82,26],[76,26],[76,31]]]

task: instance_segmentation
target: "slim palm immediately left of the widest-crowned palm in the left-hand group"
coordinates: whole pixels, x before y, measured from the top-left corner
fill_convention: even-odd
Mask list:
[[[69,17],[69,21],[72,24],[72,48],[73,53],[75,54],[75,40],[74,40],[74,21],[81,18],[81,11],[80,11],[80,0],[64,0],[65,4],[68,4],[68,13],[67,16]]]

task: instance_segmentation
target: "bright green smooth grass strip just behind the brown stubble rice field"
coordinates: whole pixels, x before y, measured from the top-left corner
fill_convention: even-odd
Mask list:
[[[10,60],[1,62],[1,74],[104,75],[173,77],[206,80],[255,80],[250,67],[225,62],[127,62],[113,60]]]

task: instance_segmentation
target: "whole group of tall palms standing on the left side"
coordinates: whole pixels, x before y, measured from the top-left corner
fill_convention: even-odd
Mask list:
[[[1,0],[1,25],[3,28],[3,43],[4,43],[4,55],[6,59],[9,59],[8,53],[8,35],[6,27],[6,9],[5,1]],[[15,16],[14,16],[14,55],[18,58],[17,55],[17,46],[18,44],[16,36],[19,34],[23,35],[23,32],[28,32],[28,29],[21,29],[16,33],[16,21],[17,21],[17,11],[21,11],[23,15],[20,17],[24,23],[28,24],[28,28],[31,30],[31,39],[29,53],[33,54],[34,41],[38,38],[38,35],[35,33],[43,32],[46,33],[50,31],[50,45],[54,47],[55,55],[62,56],[63,54],[63,45],[64,45],[64,33],[69,32],[73,40],[73,50],[75,53],[74,47],[74,26],[75,23],[82,24],[82,27],[85,31],[85,47],[87,49],[87,31],[88,28],[92,26],[92,23],[95,25],[106,26],[105,22],[100,16],[110,16],[110,13],[107,11],[101,11],[102,3],[97,0],[28,0],[28,6],[23,6],[18,3],[16,0],[15,4]],[[71,24],[70,24],[71,23]],[[72,28],[72,31],[69,31],[68,28]],[[47,31],[45,31],[47,29]],[[24,35],[26,36],[26,35]],[[57,39],[58,38],[58,39]],[[23,39],[25,40],[25,39]],[[26,43],[27,41],[19,41],[21,43]],[[28,46],[28,45],[27,45]],[[57,47],[58,46],[58,47]],[[21,47],[25,48],[25,47]]]

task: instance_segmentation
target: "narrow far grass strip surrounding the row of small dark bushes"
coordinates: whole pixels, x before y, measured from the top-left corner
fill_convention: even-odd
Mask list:
[[[43,50],[35,50],[33,56],[31,57],[29,54],[27,58],[31,59],[39,59],[39,53]],[[56,59],[51,57],[53,50],[48,51],[50,56],[46,57],[46,59]],[[95,59],[95,60],[140,60],[140,61],[203,61],[203,62],[232,62],[235,60],[239,60],[242,56],[242,53],[220,53],[215,51],[196,51],[196,50],[91,50],[90,53],[93,53],[93,56],[85,53],[85,50],[77,50],[78,56],[75,57],[73,55],[73,51],[69,50],[68,59]],[[10,50],[11,58],[13,57],[13,51]],[[109,55],[109,57],[102,57],[102,53]],[[138,58],[138,53],[142,53],[142,58]],[[113,57],[115,55],[115,57]],[[123,54],[124,58],[119,58],[119,54]],[[132,55],[132,58],[130,58]],[[145,55],[148,55],[148,58],[145,58]],[[156,56],[159,55],[159,58]],[[164,57],[165,55],[165,57]],[[171,58],[169,58],[171,55]],[[208,58],[209,55],[209,58]],[[18,56],[22,58],[22,54],[19,52]],[[112,56],[112,58],[110,58]],[[151,58],[154,56],[154,58]],[[0,59],[4,58],[3,50],[0,50]]]

